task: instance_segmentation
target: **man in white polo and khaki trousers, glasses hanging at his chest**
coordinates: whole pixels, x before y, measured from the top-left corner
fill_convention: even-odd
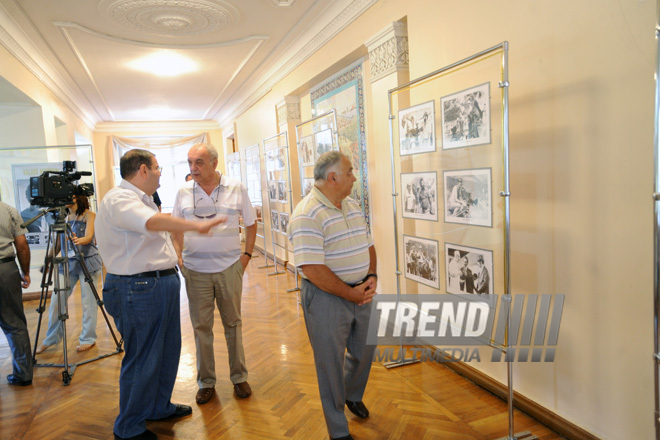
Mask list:
[[[198,404],[208,402],[215,391],[215,356],[213,353],[213,313],[215,304],[225,329],[229,357],[229,378],[240,398],[252,390],[247,382],[243,350],[241,294],[243,273],[252,258],[257,236],[254,208],[245,186],[217,173],[218,152],[210,144],[194,145],[188,152],[188,166],[193,180],[177,193],[172,215],[190,221],[202,221],[217,215],[227,222],[214,229],[212,236],[174,233],[179,266],[186,279],[190,321],[197,347]],[[241,250],[239,217],[245,226],[245,251]]]

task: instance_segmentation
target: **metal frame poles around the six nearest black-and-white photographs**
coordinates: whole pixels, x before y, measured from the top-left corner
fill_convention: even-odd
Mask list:
[[[501,89],[501,129],[502,129],[502,139],[501,139],[501,148],[502,148],[502,188],[499,191],[499,195],[502,200],[502,221],[503,221],[503,284],[504,284],[504,294],[502,298],[501,307],[504,310],[501,310],[505,313],[506,316],[506,327],[505,327],[505,336],[504,344],[498,345],[495,341],[490,341],[490,345],[496,349],[501,350],[505,354],[511,351],[511,341],[509,338],[509,329],[511,327],[511,306],[512,306],[512,297],[511,297],[511,267],[510,267],[510,243],[511,243],[511,230],[510,230],[510,187],[509,187],[509,66],[508,66],[508,53],[509,53],[509,43],[504,41],[496,46],[485,49],[481,52],[475,53],[467,58],[464,58],[455,63],[449,64],[441,69],[433,71],[429,74],[426,74],[422,77],[419,77],[415,80],[409,81],[406,84],[398,86],[396,88],[390,89],[388,91],[388,103],[389,103],[389,132],[390,132],[390,158],[391,158],[391,169],[392,169],[392,211],[394,218],[394,246],[395,246],[395,264],[396,264],[396,289],[397,289],[397,302],[401,300],[401,269],[399,261],[399,225],[397,219],[397,197],[399,196],[396,187],[396,171],[395,171],[395,150],[394,150],[394,121],[396,120],[396,115],[393,114],[393,96],[401,93],[403,91],[408,91],[414,85],[420,85],[428,83],[433,79],[444,77],[450,71],[455,71],[457,69],[463,69],[467,66],[474,65],[477,61],[484,60],[488,57],[496,56],[498,53],[501,54],[501,68],[500,68],[500,81],[499,88]],[[658,92],[660,94],[660,92]],[[656,98],[657,102],[658,98]],[[494,103],[495,101],[493,101]],[[657,125],[657,124],[656,124]],[[442,127],[441,127],[442,129]],[[440,130],[436,130],[436,133]],[[656,127],[657,134],[657,127]],[[656,139],[657,140],[657,139]],[[399,139],[396,140],[397,143]],[[436,148],[438,145],[437,139],[434,139],[436,142]],[[660,179],[658,183],[658,193],[660,193]],[[658,197],[660,200],[660,196]],[[492,209],[492,208],[491,208]],[[658,224],[660,228],[660,215],[658,217]],[[657,241],[656,241],[657,243]],[[438,263],[439,264],[439,263]],[[659,271],[656,271],[656,275]],[[657,307],[656,307],[657,310]],[[657,317],[656,317],[657,322]],[[515,341],[514,341],[515,342]],[[657,351],[657,350],[656,350]],[[507,363],[507,388],[508,388],[508,423],[509,423],[509,432],[508,436],[504,437],[507,440],[515,440],[522,438],[531,437],[531,433],[528,431],[520,432],[513,434],[513,363],[512,359],[509,356],[505,356],[505,361]],[[416,363],[415,359],[405,359],[405,351],[403,347],[403,340],[400,343],[400,355],[398,361],[391,362],[386,365],[387,368],[398,367],[403,365],[409,365],[411,363]],[[657,370],[656,370],[657,372]],[[656,387],[657,388],[657,387]],[[657,410],[656,410],[657,411]],[[657,412],[656,412],[657,415]],[[657,417],[656,417],[657,421]],[[503,438],[503,439],[504,439]]]

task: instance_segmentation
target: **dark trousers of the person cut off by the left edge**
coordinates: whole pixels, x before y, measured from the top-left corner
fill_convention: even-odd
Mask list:
[[[18,380],[32,380],[32,350],[23,311],[21,274],[13,261],[0,264],[0,327],[14,358],[12,373]]]

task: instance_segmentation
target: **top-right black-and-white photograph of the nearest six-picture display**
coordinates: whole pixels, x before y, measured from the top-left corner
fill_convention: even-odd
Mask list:
[[[490,144],[490,83],[440,100],[442,149]]]

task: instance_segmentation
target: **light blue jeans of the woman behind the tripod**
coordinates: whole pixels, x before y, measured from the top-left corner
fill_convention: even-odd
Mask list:
[[[99,281],[101,281],[101,271],[92,272],[90,274],[94,286],[98,290]],[[65,303],[69,300],[69,297],[73,293],[76,283],[80,281],[80,296],[83,307],[83,328],[80,332],[80,338],[78,341],[80,345],[82,344],[93,344],[96,342],[96,318],[98,316],[98,309],[96,304],[96,298],[94,298],[94,292],[92,288],[85,281],[85,274],[82,271],[69,272],[69,291],[66,294],[66,299],[62,300],[61,304],[61,313],[66,311]],[[60,286],[64,287],[64,277],[60,275]],[[62,340],[64,335],[64,330],[62,329],[61,322],[59,320],[60,313],[57,311],[58,296],[56,292],[53,292],[53,295],[50,297],[50,305],[48,307],[48,331],[46,332],[46,338],[44,339],[44,345],[55,345]]]

